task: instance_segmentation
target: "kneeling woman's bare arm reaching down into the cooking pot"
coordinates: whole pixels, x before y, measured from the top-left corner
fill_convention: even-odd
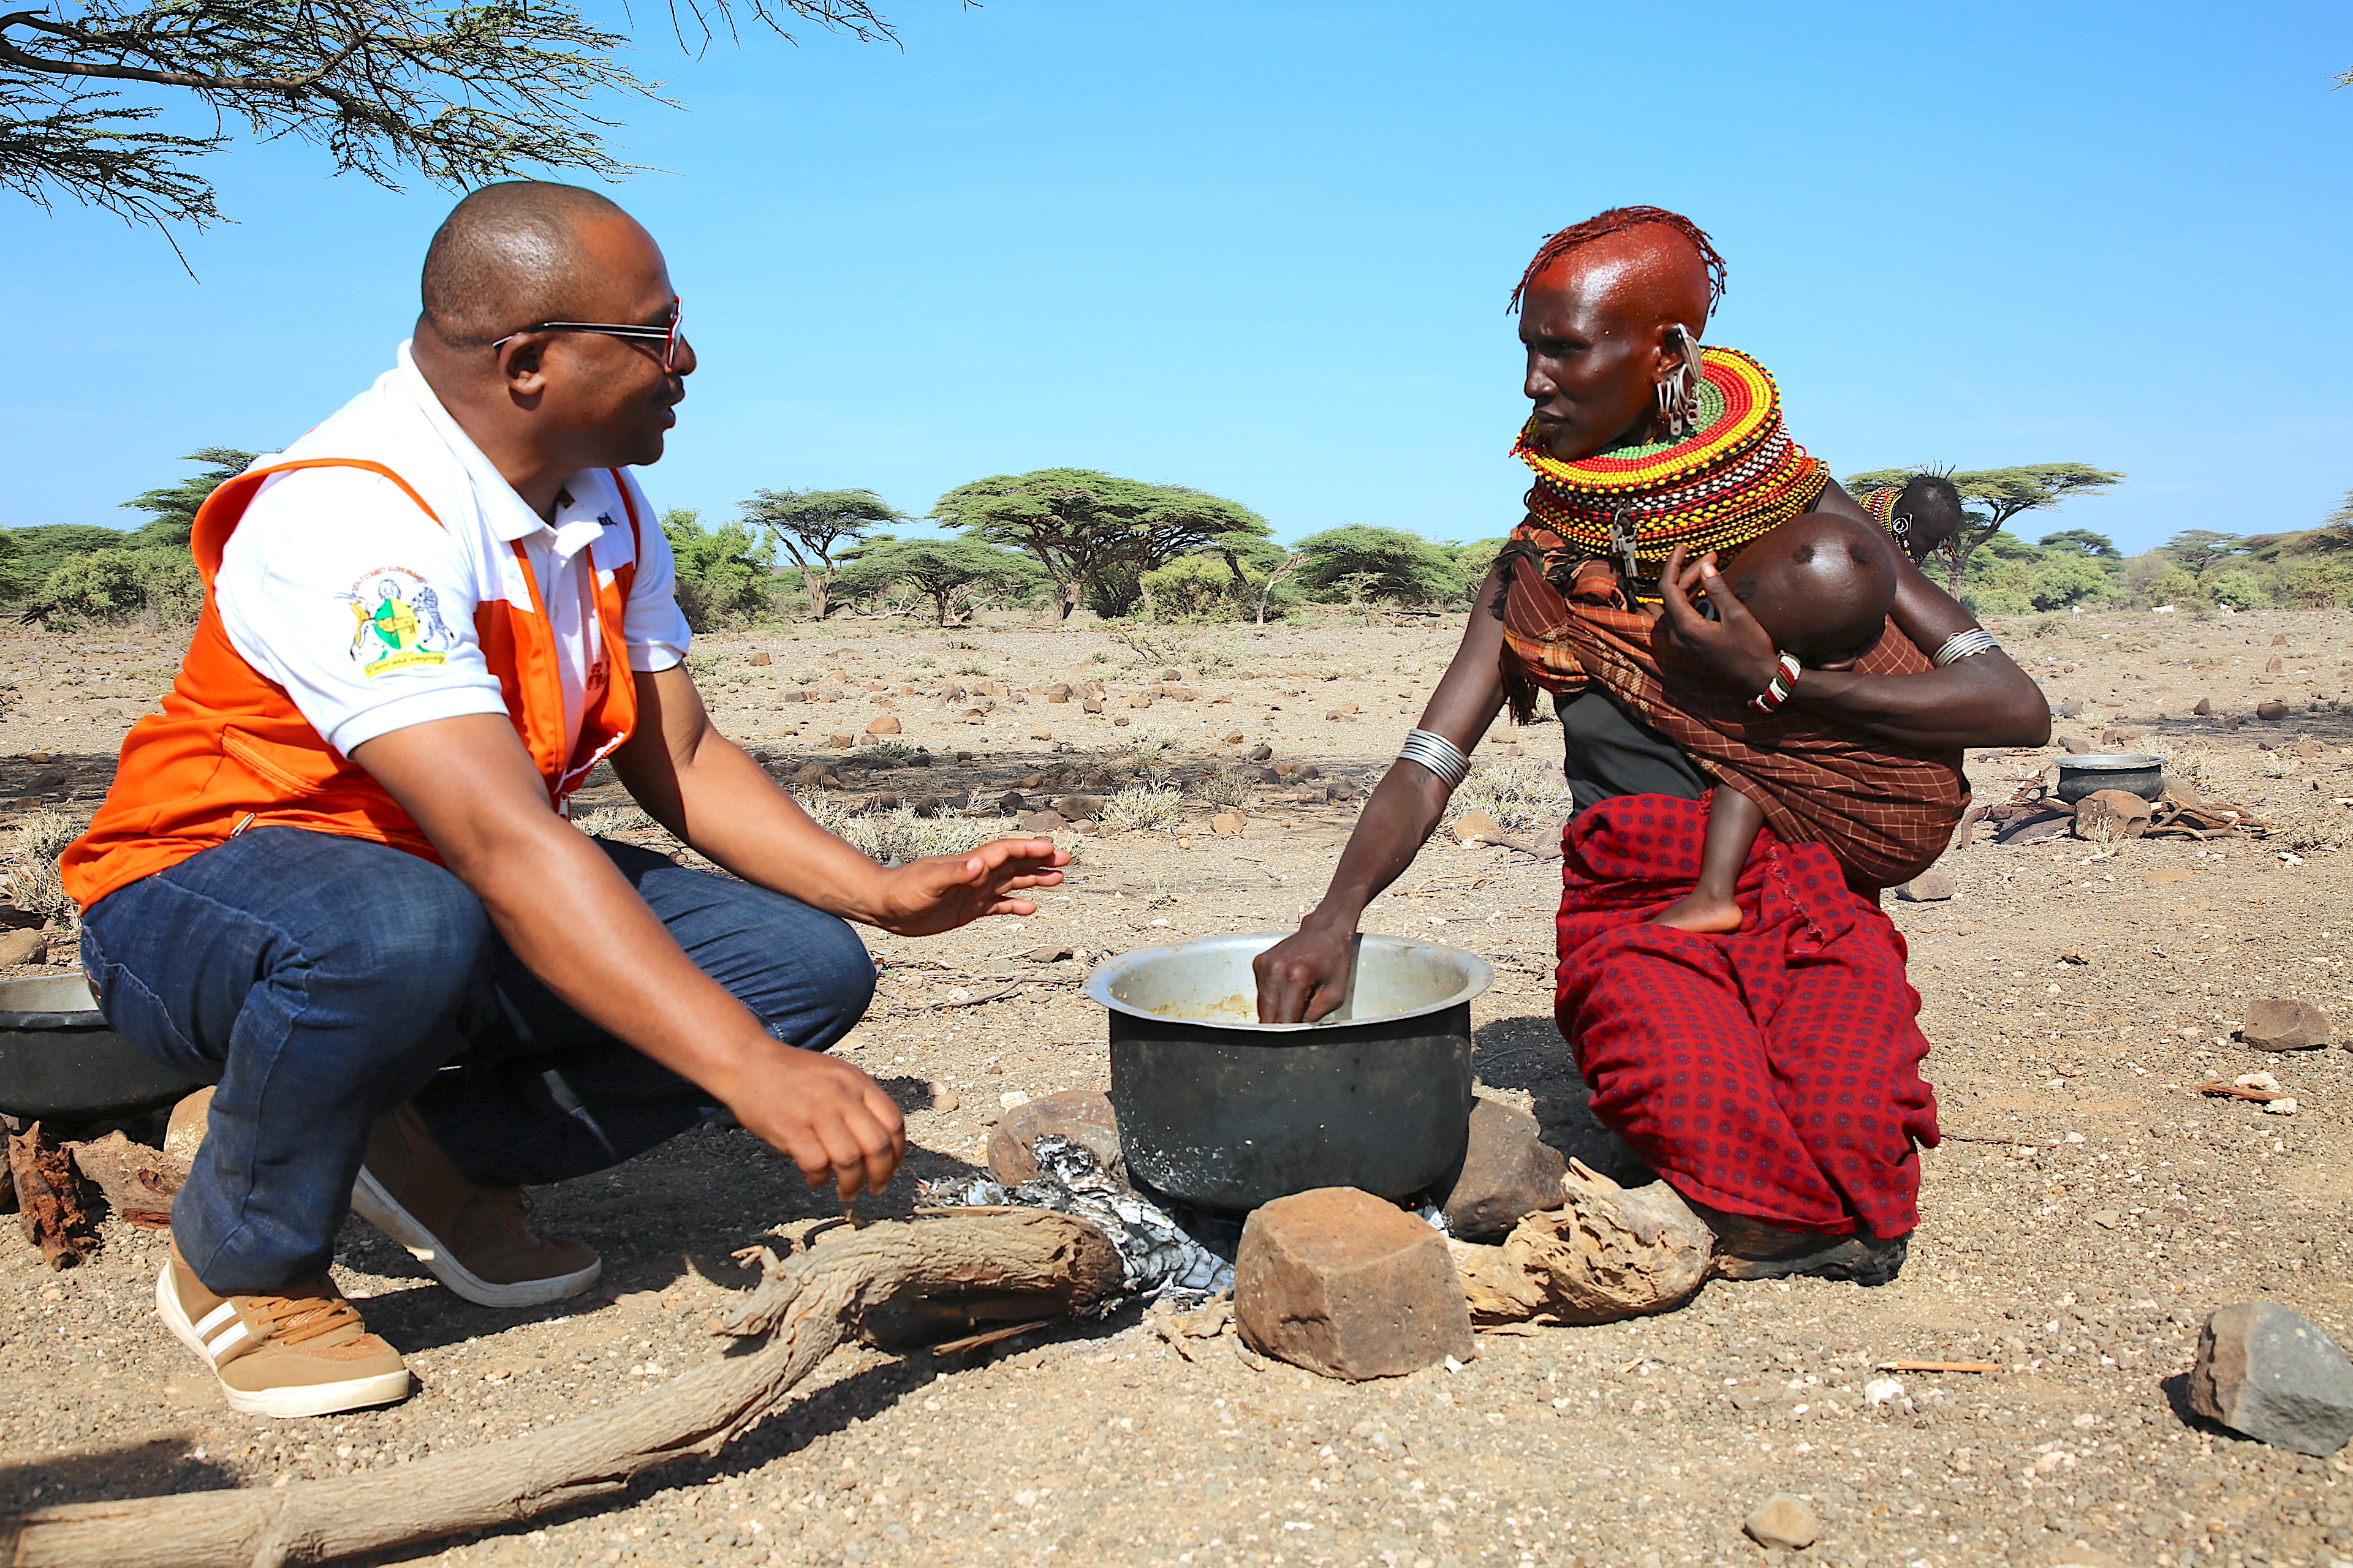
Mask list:
[[[1464,755],[1504,708],[1504,571],[1494,567],[1471,599],[1454,661],[1421,710],[1419,729],[1445,736]],[[1322,903],[1299,922],[1297,936],[1257,957],[1259,1023],[1313,1023],[1346,999],[1355,922],[1421,853],[1449,795],[1445,780],[1419,762],[1388,764],[1355,818]]]

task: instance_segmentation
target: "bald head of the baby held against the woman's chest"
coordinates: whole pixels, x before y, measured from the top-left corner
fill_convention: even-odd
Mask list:
[[[1849,517],[1791,517],[1725,567],[1725,581],[1774,646],[1809,668],[1878,646],[1897,602],[1894,541]]]

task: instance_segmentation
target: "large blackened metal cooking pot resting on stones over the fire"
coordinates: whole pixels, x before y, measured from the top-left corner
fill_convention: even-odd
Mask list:
[[[1139,947],[1096,966],[1127,1168],[1193,1204],[1257,1208],[1308,1187],[1402,1199],[1464,1159],[1475,952],[1358,936],[1348,999],[1259,1023],[1249,961],[1282,931]]]

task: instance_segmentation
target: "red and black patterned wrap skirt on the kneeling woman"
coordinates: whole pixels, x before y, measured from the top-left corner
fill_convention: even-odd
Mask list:
[[[1626,795],[1565,832],[1555,1016],[1593,1114],[1697,1204],[1904,1237],[1937,1147],[1904,936],[1826,846],[1769,827],[1737,933],[1642,924],[1692,891],[1706,827],[1706,802]]]

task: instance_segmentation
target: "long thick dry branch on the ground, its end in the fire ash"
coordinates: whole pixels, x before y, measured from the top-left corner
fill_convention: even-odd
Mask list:
[[[908,1295],[1033,1295],[1085,1312],[1120,1286],[1101,1232],[1035,1208],[875,1222],[774,1265],[727,1333],[772,1335],[647,1399],[381,1474],[75,1502],[0,1519],[14,1568],[280,1568],[511,1526],[715,1453],[774,1410],[871,1309]]]

